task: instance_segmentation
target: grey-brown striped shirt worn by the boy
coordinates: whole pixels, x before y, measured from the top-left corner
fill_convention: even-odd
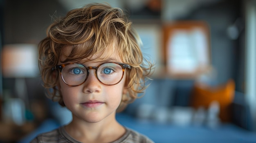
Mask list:
[[[39,134],[30,143],[81,143],[72,138],[65,130],[60,127],[56,130]],[[117,141],[112,143],[154,143],[147,136],[126,128],[126,133]]]

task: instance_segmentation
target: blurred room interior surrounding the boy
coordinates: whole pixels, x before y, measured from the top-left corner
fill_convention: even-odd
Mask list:
[[[156,64],[121,124],[156,143],[256,142],[256,0],[0,0],[0,143],[71,120],[45,97],[37,44],[55,17],[90,2],[127,10]]]

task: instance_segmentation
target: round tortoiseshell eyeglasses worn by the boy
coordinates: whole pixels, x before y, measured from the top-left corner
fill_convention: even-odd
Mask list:
[[[97,79],[105,85],[112,86],[118,84],[124,76],[124,69],[131,66],[118,62],[105,62],[99,66],[85,66],[79,63],[61,64],[53,67],[59,69],[61,78],[68,86],[80,86],[89,76],[89,70],[95,69]]]

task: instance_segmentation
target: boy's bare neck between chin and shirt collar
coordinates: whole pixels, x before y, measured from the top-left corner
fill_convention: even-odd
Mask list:
[[[74,139],[83,143],[109,143],[119,139],[125,128],[113,117],[107,117],[97,123],[88,123],[73,115],[73,120],[65,130]]]

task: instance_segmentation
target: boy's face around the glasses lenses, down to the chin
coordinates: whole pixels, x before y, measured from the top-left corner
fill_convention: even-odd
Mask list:
[[[66,48],[65,52],[69,52]],[[97,55],[92,56],[95,59]],[[61,57],[63,58],[63,57]],[[63,59],[61,59],[62,61]],[[121,62],[118,53],[113,53],[108,61]],[[103,62],[92,60],[79,62],[85,66],[98,66]],[[58,64],[65,64],[59,62]],[[72,112],[73,121],[83,120],[89,123],[96,123],[103,119],[115,118],[115,111],[118,108],[122,95],[127,92],[125,86],[126,72],[123,79],[116,85],[108,86],[102,84],[95,75],[95,70],[90,69],[88,79],[80,86],[68,86],[59,76],[59,89],[63,96],[65,106]]]

